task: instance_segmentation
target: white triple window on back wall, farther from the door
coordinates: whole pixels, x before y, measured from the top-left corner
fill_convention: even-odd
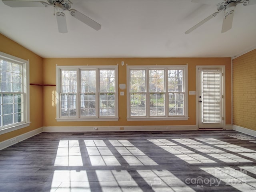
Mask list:
[[[118,120],[117,66],[57,66],[57,121]]]

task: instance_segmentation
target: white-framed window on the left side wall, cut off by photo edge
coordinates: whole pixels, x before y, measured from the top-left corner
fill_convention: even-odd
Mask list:
[[[29,62],[0,52],[0,132],[29,125]]]

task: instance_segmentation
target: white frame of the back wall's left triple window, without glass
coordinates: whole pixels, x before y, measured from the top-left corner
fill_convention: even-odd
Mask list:
[[[76,95],[76,116],[62,117],[61,116],[61,105],[60,105],[60,93],[61,93],[61,71],[62,70],[76,70],[77,71],[77,95]],[[87,117],[80,116],[80,71],[81,70],[115,70],[115,116],[99,116]],[[99,87],[100,77],[96,74],[96,87]],[[98,88],[96,88],[98,89]],[[118,121],[118,66],[58,66],[56,65],[56,120],[58,122],[65,121]],[[100,92],[96,92],[100,94]],[[99,96],[96,96],[99,97]],[[97,102],[97,101],[96,101]],[[96,110],[99,110],[99,104],[96,104]],[[98,114],[96,112],[96,114]]]

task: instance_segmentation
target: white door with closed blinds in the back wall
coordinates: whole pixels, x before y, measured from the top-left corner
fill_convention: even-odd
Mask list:
[[[223,128],[223,68],[198,66],[198,128]]]

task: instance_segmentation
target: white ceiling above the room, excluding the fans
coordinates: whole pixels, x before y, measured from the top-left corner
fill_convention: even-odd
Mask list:
[[[11,8],[0,0],[0,33],[43,58],[234,57],[256,48],[256,5],[238,4],[228,32],[221,33],[221,12],[184,34],[216,6],[191,0],[71,1],[102,28],[96,31],[65,11],[68,33],[61,34],[52,6]]]

